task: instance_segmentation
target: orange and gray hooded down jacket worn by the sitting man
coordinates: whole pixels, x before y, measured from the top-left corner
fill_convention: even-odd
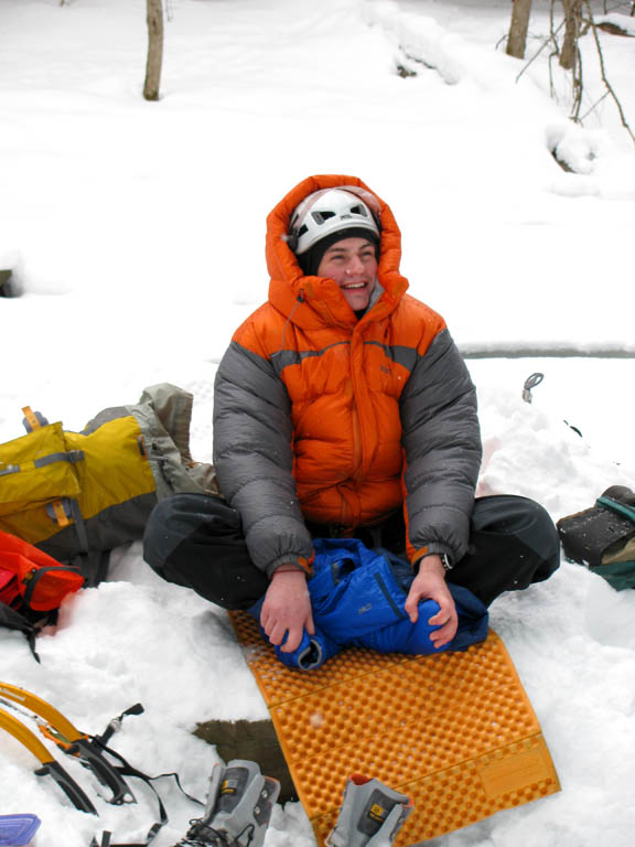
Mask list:
[[[303,276],[287,244],[300,201],[333,186],[362,193],[381,225],[380,296],[359,320],[332,279]],[[466,549],[481,461],[474,386],[443,319],[406,293],[399,228],[367,192],[354,176],[311,176],[273,208],[268,302],[218,367],[214,465],[269,575],[311,560],[305,521],[346,534],[402,506],[413,561]]]

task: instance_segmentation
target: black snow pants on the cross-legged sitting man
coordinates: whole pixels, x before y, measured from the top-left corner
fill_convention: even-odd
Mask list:
[[[314,538],[330,527],[309,525]],[[359,528],[367,547],[406,555],[401,514]],[[249,609],[269,580],[249,558],[238,513],[220,497],[175,494],[160,501],[146,527],[143,558],[163,579],[192,588],[224,609]],[[485,605],[504,591],[548,579],[560,564],[558,532],[548,513],[526,497],[478,497],[469,549],[448,581],[469,588]]]

